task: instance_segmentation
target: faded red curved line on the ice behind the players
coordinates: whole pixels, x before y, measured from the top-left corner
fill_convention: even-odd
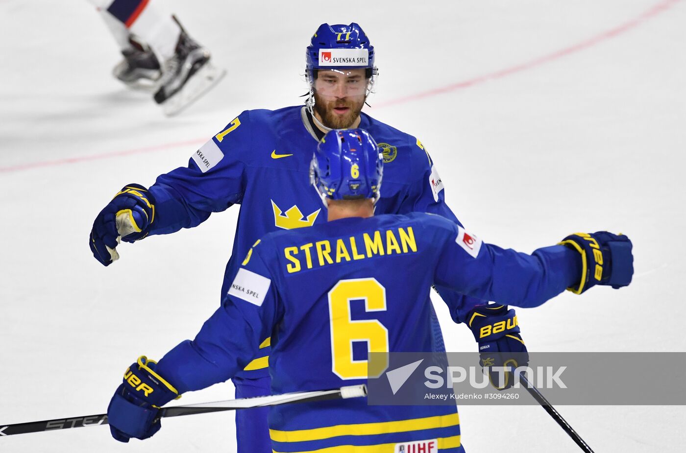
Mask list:
[[[596,36],[593,36],[592,38],[578,42],[575,45],[565,47],[564,49],[560,49],[560,50],[554,51],[552,53],[548,53],[547,55],[541,56],[539,58],[535,58],[534,60],[530,60],[528,62],[523,62],[520,64],[515,64],[514,66],[510,66],[508,68],[501,69],[499,71],[495,71],[492,73],[480,75],[480,76],[474,77],[472,79],[463,80],[462,82],[456,82],[454,84],[449,84],[447,86],[442,86],[440,88],[434,88],[433,90],[424,91],[422,93],[416,93],[416,94],[410,95],[410,96],[399,97],[397,99],[392,99],[391,101],[388,101],[385,103],[378,103],[378,104],[375,104],[375,107],[383,108],[383,107],[388,107],[388,106],[394,106],[394,105],[399,104],[399,103],[416,101],[417,99],[423,99],[425,97],[436,96],[436,95],[440,95],[442,93],[449,93],[451,91],[460,90],[462,88],[467,88],[469,86],[482,84],[488,80],[500,79],[500,78],[506,77],[508,75],[512,75],[515,73],[519,73],[521,71],[525,71],[526,69],[534,68],[535,66],[540,66],[541,64],[545,64],[547,62],[551,62],[552,60],[557,60],[558,58],[568,56],[571,53],[576,53],[578,51],[588,49],[589,47],[593,47],[594,45],[599,44],[600,42],[603,42],[603,41],[608,40],[610,38],[614,38],[615,36],[623,34],[624,32],[628,32],[628,30],[635,28],[638,25],[641,25],[642,23],[645,23],[646,21],[648,21],[648,19],[652,19],[654,16],[657,16],[657,14],[660,14],[661,12],[664,12],[665,10],[671,8],[672,6],[674,6],[679,1],[681,1],[681,0],[663,0],[660,3],[653,5],[650,9],[642,12],[641,14],[639,14],[639,16],[635,17],[634,19],[631,19],[630,21],[623,23],[622,25],[608,29],[605,32],[602,32]],[[147,1],[144,1],[141,4],[145,5],[145,3],[147,3]],[[142,8],[141,8],[141,10],[142,10]],[[34,162],[31,164],[14,165],[12,167],[0,167],[0,173],[12,173],[15,171],[23,171],[23,170],[34,169],[34,168],[38,168],[38,167],[53,167],[56,165],[73,164],[73,163],[77,163],[77,162],[86,162],[88,160],[99,160],[99,159],[106,159],[106,158],[112,158],[112,157],[118,157],[118,156],[128,156],[130,154],[148,153],[148,152],[152,152],[152,151],[160,151],[162,149],[176,148],[176,147],[186,146],[186,145],[188,145],[188,146],[198,145],[200,143],[203,143],[204,141],[206,141],[206,138],[196,138],[195,140],[186,140],[186,141],[181,141],[181,142],[164,143],[162,145],[145,147],[145,148],[137,148],[137,149],[129,149],[126,151],[113,151],[111,153],[97,154],[95,156],[80,156],[80,157],[75,157],[75,158],[65,158],[65,159],[59,159],[59,160],[45,160],[43,162]]]

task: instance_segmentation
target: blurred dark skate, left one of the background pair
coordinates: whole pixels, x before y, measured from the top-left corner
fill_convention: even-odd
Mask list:
[[[113,69],[113,75],[134,90],[156,90],[162,75],[157,57],[150,47],[132,39],[130,43],[130,48],[121,51],[124,58]]]

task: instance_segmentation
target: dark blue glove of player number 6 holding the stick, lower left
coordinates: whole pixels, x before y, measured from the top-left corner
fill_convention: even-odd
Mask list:
[[[162,426],[158,417],[161,406],[180,398],[178,391],[155,372],[155,365],[140,356],[126,369],[123,383],[110,400],[107,419],[112,437],[119,442],[152,437]]]

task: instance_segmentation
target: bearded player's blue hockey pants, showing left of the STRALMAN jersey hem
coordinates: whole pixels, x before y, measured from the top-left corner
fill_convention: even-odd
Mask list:
[[[233,378],[237,398],[271,395],[270,378]],[[236,411],[236,442],[238,453],[272,453],[267,418],[269,408],[260,407]]]

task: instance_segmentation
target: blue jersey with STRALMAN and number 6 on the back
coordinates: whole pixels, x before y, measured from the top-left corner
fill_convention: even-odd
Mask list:
[[[240,264],[196,339],[158,363],[180,393],[234,376],[266,337],[272,393],[362,384],[385,371],[368,367],[368,351],[432,350],[431,284],[536,306],[581,278],[572,249],[521,254],[423,213],[272,232]],[[274,452],[397,452],[417,443],[463,451],[456,406],[368,406],[364,398],[274,406],[270,435]]]

